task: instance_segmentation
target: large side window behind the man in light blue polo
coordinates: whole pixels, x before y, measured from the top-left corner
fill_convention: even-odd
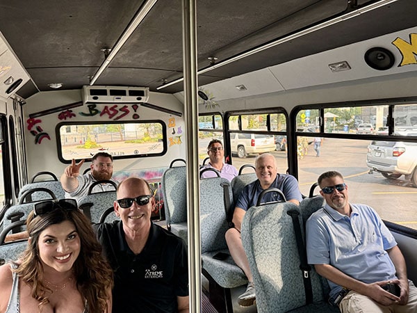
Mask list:
[[[322,110],[327,116],[324,132],[317,129],[316,134],[307,137],[297,129],[297,144],[302,147],[297,153],[300,190],[309,195],[311,185],[320,174],[336,170],[345,177],[350,202],[369,204],[384,220],[417,229],[413,222],[415,213],[409,209],[417,188],[417,143],[395,138],[397,134],[417,135],[417,132],[414,135],[411,131],[414,127],[411,117],[416,106],[390,105],[393,106],[394,121],[398,121],[398,117],[405,120],[400,119],[401,126],[395,122],[395,134],[389,140],[375,139],[375,135],[388,136],[388,131],[382,134],[377,133],[378,130],[363,131],[367,125],[382,127],[384,117],[389,118],[388,105],[325,108]],[[376,124],[373,124],[374,121]],[[347,125],[347,129],[341,125]],[[297,126],[300,127],[300,124],[297,123]],[[363,129],[358,131],[353,127]],[[404,133],[401,133],[402,129]],[[346,134],[358,136],[346,138]],[[305,138],[307,140],[303,142]],[[314,194],[318,193],[319,188],[316,188]]]

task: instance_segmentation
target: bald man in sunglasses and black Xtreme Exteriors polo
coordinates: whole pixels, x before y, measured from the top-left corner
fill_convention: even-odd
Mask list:
[[[149,184],[131,177],[117,188],[121,220],[94,225],[115,273],[113,313],[189,312],[186,245],[152,223],[154,205]]]

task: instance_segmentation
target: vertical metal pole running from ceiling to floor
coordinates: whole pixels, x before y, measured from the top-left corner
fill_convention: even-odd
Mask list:
[[[183,77],[187,129],[188,280],[190,312],[201,312],[201,243],[197,104],[196,0],[183,0]]]

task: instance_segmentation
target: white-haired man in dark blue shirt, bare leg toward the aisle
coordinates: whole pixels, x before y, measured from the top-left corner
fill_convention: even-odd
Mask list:
[[[256,297],[252,272],[250,271],[245,250],[243,250],[242,239],[240,238],[240,226],[242,225],[243,217],[247,209],[256,205],[259,194],[268,188],[278,188],[284,193],[287,201],[294,202],[295,204],[300,204],[302,200],[297,179],[292,175],[278,174],[277,161],[272,154],[265,153],[256,157],[255,168],[258,179],[243,189],[234,209],[234,228],[230,228],[226,232],[226,241],[230,254],[234,262],[242,268],[247,276],[247,280],[249,280],[245,293],[241,294],[238,298],[238,303],[242,306],[253,305]],[[277,200],[279,200],[277,193],[268,193],[265,195],[265,202]]]

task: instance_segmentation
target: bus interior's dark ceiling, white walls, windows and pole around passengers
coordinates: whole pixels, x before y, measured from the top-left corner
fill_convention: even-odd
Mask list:
[[[1,1],[1,224],[31,177],[105,151],[116,180],[154,186],[166,225],[163,175],[183,160],[190,311],[256,312],[201,275],[196,169],[216,138],[237,169],[274,154],[306,199],[341,172],[417,282],[416,16],[415,0]]]

